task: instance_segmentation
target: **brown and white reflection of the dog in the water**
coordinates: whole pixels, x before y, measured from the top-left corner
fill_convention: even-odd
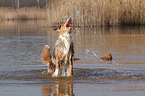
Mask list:
[[[75,96],[72,80],[58,80],[55,84],[43,85],[42,96]]]

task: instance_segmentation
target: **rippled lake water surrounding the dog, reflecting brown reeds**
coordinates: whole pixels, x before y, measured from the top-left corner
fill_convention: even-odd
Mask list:
[[[47,21],[0,21],[0,96],[144,96],[145,27],[75,27],[73,77],[52,78],[40,60],[58,32]],[[106,53],[112,62],[100,60]]]

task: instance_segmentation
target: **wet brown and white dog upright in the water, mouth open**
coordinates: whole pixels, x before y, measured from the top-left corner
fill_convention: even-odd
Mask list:
[[[73,75],[73,56],[74,45],[71,35],[71,18],[59,28],[60,35],[55,43],[53,56],[50,54],[50,47],[45,45],[41,60],[48,65],[48,73],[53,73],[52,76],[72,76]]]

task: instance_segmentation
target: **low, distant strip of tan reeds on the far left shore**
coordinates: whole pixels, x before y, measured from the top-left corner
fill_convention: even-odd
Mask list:
[[[23,7],[19,10],[13,8],[0,8],[0,20],[39,20],[47,19],[46,9]]]

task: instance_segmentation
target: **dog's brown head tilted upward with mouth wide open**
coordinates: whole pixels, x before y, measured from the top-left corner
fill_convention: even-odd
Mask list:
[[[57,31],[60,32],[61,35],[65,34],[66,32],[70,32],[72,20],[71,18],[67,19],[67,21],[61,25]]]

